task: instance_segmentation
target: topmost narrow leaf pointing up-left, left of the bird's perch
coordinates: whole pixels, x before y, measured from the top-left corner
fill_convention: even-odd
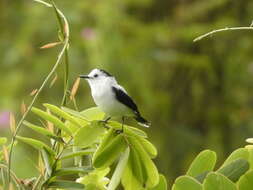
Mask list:
[[[80,123],[76,118],[68,114],[67,112],[63,111],[62,109],[58,108],[52,104],[43,104],[46,108],[48,108],[51,112],[55,113],[56,115],[64,118],[65,120],[70,121],[76,126],[82,127],[82,123]]]

